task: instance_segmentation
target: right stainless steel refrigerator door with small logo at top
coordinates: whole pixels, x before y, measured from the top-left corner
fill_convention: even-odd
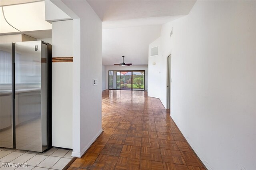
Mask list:
[[[47,148],[46,45],[41,41],[15,45],[16,149]]]

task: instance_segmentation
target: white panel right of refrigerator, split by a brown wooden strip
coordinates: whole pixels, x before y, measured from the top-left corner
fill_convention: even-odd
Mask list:
[[[52,57],[73,57],[73,20],[52,22]],[[55,61],[55,60],[54,60]],[[52,146],[72,148],[73,63],[52,63]]]

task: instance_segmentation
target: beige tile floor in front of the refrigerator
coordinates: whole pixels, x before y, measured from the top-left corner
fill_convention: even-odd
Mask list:
[[[40,153],[28,150],[0,148],[0,169],[1,170],[62,170],[73,158],[72,150],[51,148]],[[28,164],[28,167],[9,167],[6,163]]]

